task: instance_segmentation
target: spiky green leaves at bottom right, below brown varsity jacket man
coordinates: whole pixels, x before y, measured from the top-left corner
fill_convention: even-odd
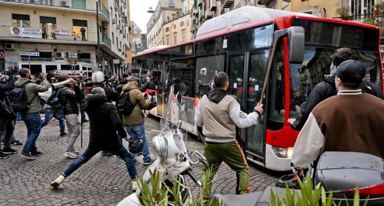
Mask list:
[[[271,190],[271,195],[269,197],[270,203],[267,203],[268,206],[339,206],[333,200],[332,191],[329,192],[328,197],[325,192],[325,189],[320,186],[320,183],[316,185],[315,189],[312,188],[312,180],[309,174],[307,174],[306,180],[301,181],[297,179],[301,191],[290,190],[288,184],[285,186],[285,193],[275,193]],[[353,206],[359,206],[360,197],[359,197],[359,187],[355,189],[354,203]],[[368,204],[368,200],[365,202],[364,206]],[[348,203],[347,203],[348,205]]]

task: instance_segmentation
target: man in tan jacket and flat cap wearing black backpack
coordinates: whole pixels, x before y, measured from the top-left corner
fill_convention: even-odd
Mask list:
[[[143,161],[144,165],[150,165],[153,160],[149,153],[149,143],[145,137],[144,113],[142,111],[149,106],[150,100],[146,100],[143,93],[137,88],[138,80],[137,77],[129,76],[128,83],[123,86],[123,92],[129,92],[132,104],[136,105],[131,114],[123,114],[123,123],[131,140],[142,139],[144,141]],[[134,154],[133,158],[135,159]]]

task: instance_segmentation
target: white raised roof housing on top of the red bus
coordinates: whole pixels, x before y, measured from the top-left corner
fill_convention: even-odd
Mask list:
[[[197,30],[196,38],[287,15],[317,17],[307,13],[243,6],[205,21]]]

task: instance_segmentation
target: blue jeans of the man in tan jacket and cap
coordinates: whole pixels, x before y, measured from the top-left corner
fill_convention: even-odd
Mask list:
[[[145,137],[145,127],[144,124],[140,125],[126,125],[125,130],[130,136],[130,139],[135,141],[142,139],[144,141],[144,147],[143,147],[143,161],[147,161],[151,159],[150,153],[149,153],[149,143]],[[133,158],[135,158],[135,154],[132,154]]]

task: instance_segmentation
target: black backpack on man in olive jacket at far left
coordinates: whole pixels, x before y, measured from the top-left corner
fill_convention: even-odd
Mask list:
[[[13,108],[13,111],[15,112],[21,112],[25,113],[28,111],[30,107],[30,103],[33,101],[35,96],[28,102],[26,95],[25,95],[25,86],[31,82],[25,82],[21,85],[21,87],[15,87],[10,93],[9,93],[9,101],[10,106]]]

